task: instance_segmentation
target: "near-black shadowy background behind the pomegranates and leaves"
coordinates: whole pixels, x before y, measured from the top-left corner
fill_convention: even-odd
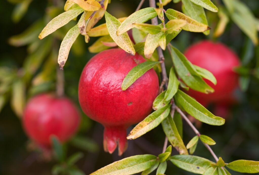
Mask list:
[[[259,17],[259,1],[246,0],[245,2],[254,15]],[[113,16],[119,18],[128,16],[133,13],[139,1],[118,1],[112,0],[108,5],[107,11]],[[27,56],[27,47],[14,47],[8,44],[8,38],[24,31],[35,20],[41,18],[45,14],[46,7],[51,5],[51,1],[34,0],[20,22],[14,23],[11,20],[11,13],[14,9],[13,4],[7,1],[0,2],[1,14],[1,46],[0,46],[0,66],[8,66],[19,69],[23,66],[23,61]],[[143,7],[148,6],[148,1]],[[174,8],[181,10],[180,3],[170,3],[165,6],[167,8]],[[206,10],[210,26],[215,27],[218,20],[217,14],[208,12]],[[104,19],[100,20],[98,24],[104,23]],[[51,37],[51,36],[49,36]],[[82,36],[81,40],[83,40]],[[248,59],[248,66],[255,65],[255,49],[251,46],[251,41],[245,36],[240,29],[230,22],[227,25],[225,33],[220,38],[213,38],[205,36],[200,33],[190,33],[182,31],[173,41],[173,45],[184,51],[191,43],[195,43],[201,39],[211,39],[221,41],[233,49],[241,59]],[[91,38],[90,43],[83,44],[83,50],[80,54],[70,52],[68,61],[65,65],[65,92],[76,104],[77,100],[77,86],[81,71],[87,61],[94,55],[88,52],[88,47],[95,41],[96,38]],[[57,43],[59,47],[60,42]],[[251,48],[250,56],[244,55],[247,47]],[[166,56],[167,71],[170,69],[171,59],[168,54]],[[0,82],[1,83],[1,82]],[[217,144],[211,146],[217,156],[221,156],[225,162],[231,162],[237,159],[259,160],[259,80],[251,77],[249,88],[246,92],[236,90],[239,103],[231,108],[231,117],[223,126],[211,126],[203,124],[199,131],[212,137]],[[41,91],[54,90],[50,86]],[[27,95],[28,97],[30,95]],[[79,105],[78,105],[79,107]],[[184,123],[184,143],[187,144],[189,140],[195,135],[186,123]],[[128,132],[130,129],[128,130]],[[128,150],[122,157],[117,156],[117,150],[113,155],[105,153],[102,148],[102,133],[103,127],[88,119],[82,113],[82,124],[78,135],[88,138],[89,144],[86,149],[78,149],[72,144],[66,144],[67,154],[71,155],[74,152],[81,151],[84,157],[77,163],[78,167],[86,174],[89,174],[107,164],[110,164],[121,158],[137,154],[154,154],[158,155],[162,152],[164,143],[164,134],[162,127],[159,126],[144,136],[129,141]],[[95,145],[97,144],[97,146]],[[55,160],[44,161],[40,158],[40,154],[35,151],[28,150],[28,138],[26,137],[20,119],[12,111],[9,102],[5,104],[0,113],[0,174],[28,174],[28,175],[43,175],[51,174],[51,168],[56,163]],[[176,154],[174,150],[173,154]],[[199,143],[197,150],[194,153],[197,156],[213,160],[206,148]],[[230,170],[232,174],[239,174]],[[176,166],[168,162],[166,174],[191,174],[180,170]]]

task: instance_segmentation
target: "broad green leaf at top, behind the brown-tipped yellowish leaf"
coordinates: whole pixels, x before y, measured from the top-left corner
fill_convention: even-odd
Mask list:
[[[183,6],[182,6],[183,12],[187,16],[191,17],[192,19],[200,23],[208,25],[205,11],[201,6],[192,3],[190,0],[183,0],[182,2],[183,2]],[[208,27],[208,29],[210,28]],[[208,35],[210,34],[210,31],[206,30],[204,34]]]

